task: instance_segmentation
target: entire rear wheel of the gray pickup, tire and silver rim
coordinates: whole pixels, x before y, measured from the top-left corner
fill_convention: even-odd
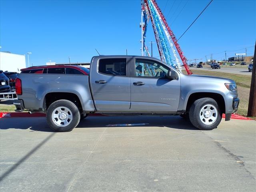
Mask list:
[[[53,102],[46,114],[47,122],[56,132],[68,132],[74,129],[80,121],[78,107],[69,100]]]

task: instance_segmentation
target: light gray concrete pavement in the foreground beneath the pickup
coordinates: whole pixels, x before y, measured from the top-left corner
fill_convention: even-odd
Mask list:
[[[114,124],[144,124],[124,126]],[[55,133],[45,118],[0,119],[1,192],[252,192],[256,121],[196,130],[179,116],[89,116]]]

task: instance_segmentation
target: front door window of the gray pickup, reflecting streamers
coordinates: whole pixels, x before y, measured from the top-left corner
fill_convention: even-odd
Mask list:
[[[160,63],[149,60],[136,59],[136,77],[165,78],[168,70],[170,69]]]

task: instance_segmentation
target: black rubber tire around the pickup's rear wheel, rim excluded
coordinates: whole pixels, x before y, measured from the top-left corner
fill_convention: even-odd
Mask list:
[[[69,124],[67,126],[58,126],[52,120],[52,113],[54,112],[54,110],[56,110],[56,108],[62,107],[62,106],[68,108],[72,112],[72,120],[71,120],[71,122],[68,122]],[[54,131],[68,132],[68,131],[71,131],[72,129],[74,129],[78,125],[78,123],[80,121],[80,112],[78,110],[78,107],[73,102],[71,102],[69,100],[58,100],[58,101],[53,102],[49,106],[49,108],[47,110],[46,118],[47,118],[48,125]]]

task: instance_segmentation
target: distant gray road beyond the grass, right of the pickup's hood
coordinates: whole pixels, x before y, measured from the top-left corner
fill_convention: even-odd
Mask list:
[[[190,69],[195,70],[207,70],[207,71],[220,71],[224,73],[234,73],[240,75],[252,75],[252,72],[248,72],[248,68],[231,68],[231,67],[220,67],[220,69],[212,69],[208,66],[204,66],[203,68],[190,67]]]

